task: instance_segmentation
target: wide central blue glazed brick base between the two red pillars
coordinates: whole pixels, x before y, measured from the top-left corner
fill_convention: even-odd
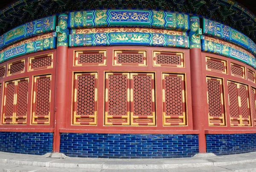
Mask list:
[[[84,158],[185,158],[198,153],[198,135],[61,133],[60,152]]]

